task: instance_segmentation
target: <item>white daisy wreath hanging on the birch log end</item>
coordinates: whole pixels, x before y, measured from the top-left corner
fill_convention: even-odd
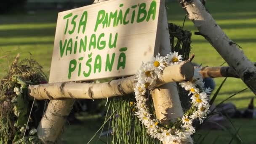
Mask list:
[[[170,123],[170,125],[162,125],[149,112],[147,107],[148,99],[146,97],[147,89],[152,90],[155,88],[156,81],[161,77],[165,67],[178,64],[181,61],[182,56],[178,55],[177,52],[167,54],[165,57],[160,56],[158,53],[156,57],[152,57],[151,61],[142,63],[136,74],[135,107],[137,112],[135,112],[135,115],[145,125],[151,137],[157,138],[166,144],[187,141],[189,136],[195,133],[195,128],[192,126],[193,120],[199,119],[200,124],[203,123],[203,119],[206,118],[210,108],[207,93],[211,91],[211,88],[204,88],[203,78],[198,72],[200,68],[196,68],[192,80],[179,83],[182,88],[189,91],[189,96],[192,95],[192,106],[185,112],[183,117],[178,118],[176,122]]]

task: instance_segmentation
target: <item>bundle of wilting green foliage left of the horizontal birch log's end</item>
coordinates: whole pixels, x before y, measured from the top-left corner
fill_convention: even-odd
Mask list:
[[[19,57],[17,57],[18,59]],[[42,67],[33,59],[13,62],[7,75],[0,80],[0,142],[14,144],[39,144],[32,128],[37,128],[42,116],[43,103],[35,101],[32,115],[29,112],[33,99],[27,94],[28,85],[45,83]],[[14,91],[16,89],[16,91]],[[18,90],[17,90],[18,89]],[[29,119],[27,131],[25,131]],[[25,133],[25,134],[24,134]]]

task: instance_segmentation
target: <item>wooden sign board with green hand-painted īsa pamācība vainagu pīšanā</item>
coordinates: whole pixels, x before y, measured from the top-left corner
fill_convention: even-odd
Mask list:
[[[60,12],[49,83],[135,75],[160,47],[163,0],[109,0]]]

